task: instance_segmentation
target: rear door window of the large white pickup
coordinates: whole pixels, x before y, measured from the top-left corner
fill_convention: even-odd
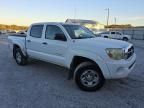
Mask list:
[[[31,28],[30,36],[35,38],[41,38],[42,37],[42,31],[43,31],[43,25],[34,25]]]

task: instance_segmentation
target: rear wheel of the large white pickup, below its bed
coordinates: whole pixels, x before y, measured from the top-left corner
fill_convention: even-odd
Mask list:
[[[15,58],[15,61],[18,65],[26,65],[27,64],[27,57],[25,57],[21,51],[20,48],[16,48],[13,51],[13,56]]]

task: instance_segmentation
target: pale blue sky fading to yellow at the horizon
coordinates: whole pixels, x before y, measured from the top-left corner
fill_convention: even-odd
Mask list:
[[[96,20],[106,24],[144,26],[144,0],[1,0],[0,23],[30,25],[34,22],[64,22],[67,18]],[[76,11],[76,12],[75,12]]]

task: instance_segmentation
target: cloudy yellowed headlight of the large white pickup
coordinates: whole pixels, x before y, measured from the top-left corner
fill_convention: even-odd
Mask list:
[[[124,49],[122,48],[107,48],[106,53],[113,60],[125,59]]]

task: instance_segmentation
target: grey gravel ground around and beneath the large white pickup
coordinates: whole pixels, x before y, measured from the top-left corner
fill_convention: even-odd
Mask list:
[[[144,49],[126,79],[108,80],[97,92],[83,92],[67,80],[68,70],[42,61],[18,66],[0,36],[0,108],[143,108]]]

